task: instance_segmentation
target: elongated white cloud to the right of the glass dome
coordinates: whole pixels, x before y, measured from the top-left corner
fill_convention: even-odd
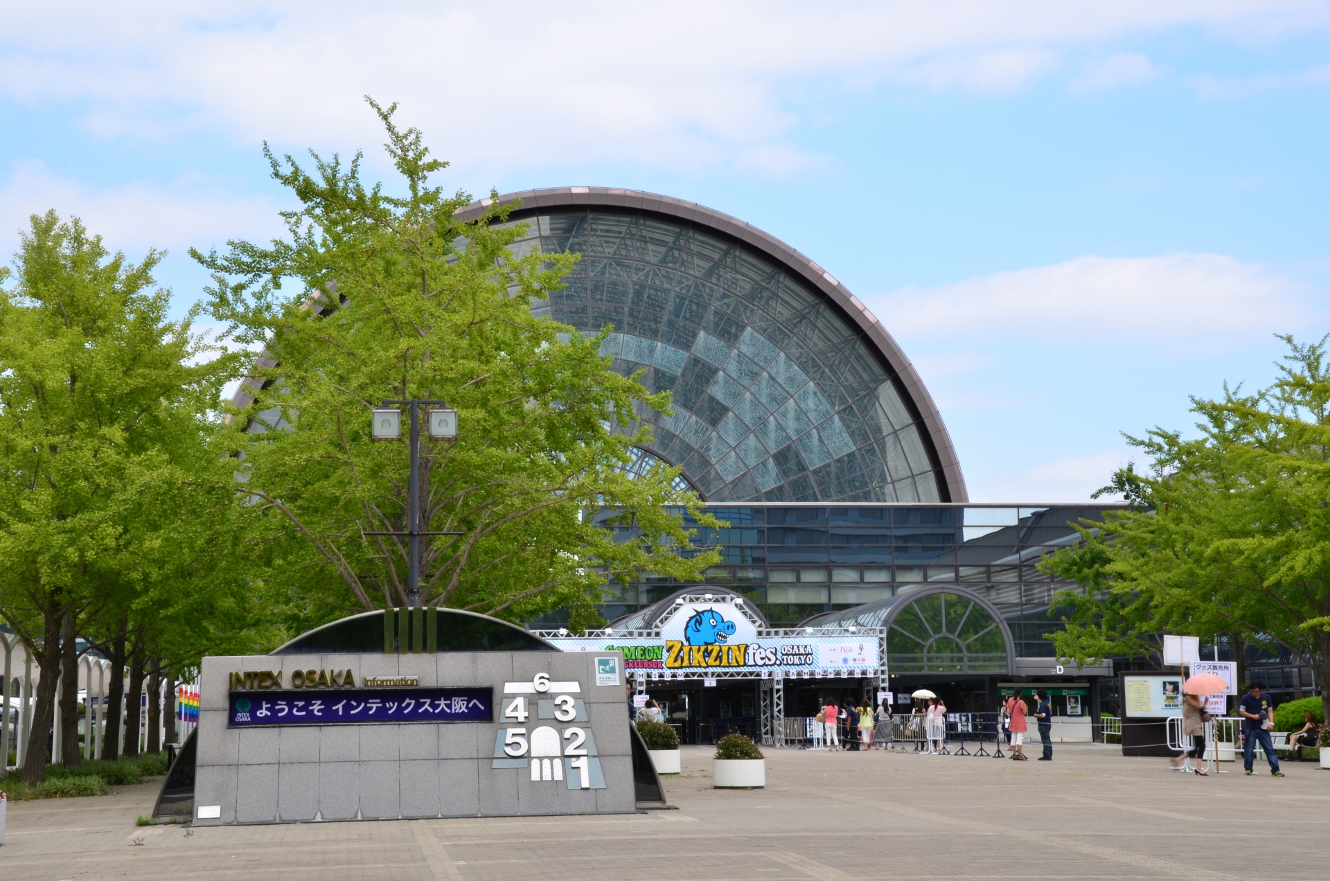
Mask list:
[[[863,297],[892,334],[1224,346],[1325,314],[1323,291],[1221,254],[1080,257],[939,287]]]

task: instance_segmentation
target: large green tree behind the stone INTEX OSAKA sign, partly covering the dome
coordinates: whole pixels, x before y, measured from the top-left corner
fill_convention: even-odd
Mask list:
[[[394,125],[395,105],[371,105],[400,196],[367,188],[359,154],[348,166],[314,156],[306,172],[267,153],[301,204],[285,214],[289,237],[194,253],[214,273],[211,314],[265,346],[234,444],[243,492],[285,519],[291,542],[274,560],[293,608],[317,623],[407,602],[406,542],[367,535],[407,527],[407,446],[370,439],[384,399],[459,413],[459,438],[422,450],[422,528],[460,534],[424,544],[424,604],[515,620],[567,607],[583,627],[600,620],[609,579],[697,576],[718,558],[690,544],[680,510],[716,520],[672,486],[676,468],[624,471],[648,438],[638,415],[669,395],[610,370],[602,337],[529,311],[576,258],[515,254],[524,225],[507,208],[455,220],[471,198],[430,184],[446,162]]]

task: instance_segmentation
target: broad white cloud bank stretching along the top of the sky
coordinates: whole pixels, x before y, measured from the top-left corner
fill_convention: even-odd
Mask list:
[[[8,3],[0,16],[0,94],[73,102],[101,134],[203,129],[348,149],[380,140],[360,102],[370,93],[400,100],[403,120],[488,180],[499,168],[606,160],[783,173],[817,161],[782,146],[801,113],[817,112],[785,97],[795,81],[1009,92],[1105,41],[1173,28],[1271,40],[1325,27],[1330,5],[233,0]],[[1129,57],[1104,64],[1100,81],[1140,76]]]

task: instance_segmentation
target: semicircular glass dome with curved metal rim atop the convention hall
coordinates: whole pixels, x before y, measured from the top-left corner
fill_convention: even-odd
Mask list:
[[[583,256],[532,311],[584,333],[673,417],[649,451],[706,502],[967,502],[932,397],[882,322],[830,273],[762,230],[637,190],[499,197],[529,224],[515,248]],[[481,200],[458,212],[475,220]]]

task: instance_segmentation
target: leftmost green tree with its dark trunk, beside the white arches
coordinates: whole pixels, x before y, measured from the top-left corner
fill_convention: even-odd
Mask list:
[[[21,238],[16,283],[0,287],[0,615],[41,669],[24,768],[33,784],[74,636],[141,582],[154,558],[142,502],[188,476],[181,450],[198,458],[233,362],[196,363],[207,346],[190,333],[193,313],[166,319],[160,260],[130,265],[49,212]],[[64,689],[70,763],[76,691]]]

